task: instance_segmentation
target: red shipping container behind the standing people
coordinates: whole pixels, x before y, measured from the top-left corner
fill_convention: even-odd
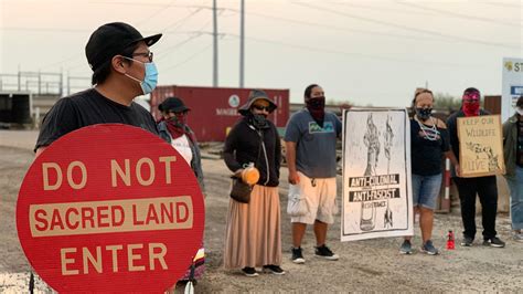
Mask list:
[[[289,119],[289,90],[263,90],[278,105],[269,119],[277,127],[285,127]],[[224,141],[227,128],[241,117],[238,108],[247,102],[249,92],[250,88],[158,86],[151,93],[151,113],[160,119],[158,105],[167,97],[177,96],[191,108],[188,125],[199,141]]]

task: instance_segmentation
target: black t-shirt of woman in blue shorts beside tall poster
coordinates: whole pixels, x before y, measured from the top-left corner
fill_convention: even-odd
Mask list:
[[[428,139],[427,135],[434,140]],[[446,128],[423,132],[418,122],[410,119],[410,164],[414,175],[434,176],[441,172],[442,155],[450,148],[448,136]]]

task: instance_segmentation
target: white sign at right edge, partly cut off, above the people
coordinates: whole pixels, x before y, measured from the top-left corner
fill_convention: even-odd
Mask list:
[[[503,59],[501,123],[515,113],[515,103],[523,95],[523,59]]]

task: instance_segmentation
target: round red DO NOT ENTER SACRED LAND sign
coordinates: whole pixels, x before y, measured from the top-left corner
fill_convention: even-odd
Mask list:
[[[203,228],[203,196],[185,160],[119,124],[53,143],[17,203],[25,256],[57,292],[164,292],[190,266]]]

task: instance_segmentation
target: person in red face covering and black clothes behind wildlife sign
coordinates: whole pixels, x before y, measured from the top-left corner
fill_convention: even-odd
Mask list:
[[[460,150],[460,140],[458,137],[458,117],[473,117],[489,115],[488,112],[480,108],[481,94],[479,90],[469,87],[465,90],[462,96],[461,109],[452,114],[447,119],[450,135],[451,151],[458,161]],[[498,186],[495,176],[484,176],[476,178],[463,178],[460,175],[459,166],[456,166],[456,174],[452,179],[458,187],[461,204],[461,220],[463,222],[462,246],[471,246],[476,237],[476,195],[481,202],[482,224],[483,224],[483,245],[493,248],[504,248],[505,243],[501,241],[495,231],[495,216],[498,213]]]

